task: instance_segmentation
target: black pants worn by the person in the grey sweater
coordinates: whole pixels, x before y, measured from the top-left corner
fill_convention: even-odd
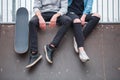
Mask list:
[[[42,13],[42,16],[45,21],[50,21],[51,17],[55,14],[55,12],[45,12]],[[57,24],[60,25],[60,28],[55,35],[51,44],[57,47],[67,32],[68,28],[71,25],[71,18],[66,15],[60,16],[57,19]],[[39,20],[37,16],[33,16],[29,22],[29,39],[30,39],[30,51],[38,52],[38,38],[37,38],[37,30],[39,28]]]

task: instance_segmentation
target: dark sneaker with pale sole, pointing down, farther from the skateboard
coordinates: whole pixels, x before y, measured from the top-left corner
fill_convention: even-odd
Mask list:
[[[53,52],[54,49],[51,49],[49,45],[44,46],[45,54],[46,54],[46,59],[49,63],[52,63],[52,58],[53,58]]]

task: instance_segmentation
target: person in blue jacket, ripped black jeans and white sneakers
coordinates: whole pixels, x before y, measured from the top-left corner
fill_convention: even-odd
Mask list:
[[[82,62],[89,61],[84,50],[84,40],[100,20],[98,13],[91,13],[93,0],[68,0],[68,16],[71,17],[74,31],[74,48]],[[83,26],[87,22],[85,28]]]

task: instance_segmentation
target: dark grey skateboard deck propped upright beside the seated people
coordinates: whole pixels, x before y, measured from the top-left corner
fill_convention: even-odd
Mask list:
[[[16,13],[16,25],[15,25],[15,40],[14,49],[18,54],[23,54],[28,51],[28,11],[26,8],[19,8]]]

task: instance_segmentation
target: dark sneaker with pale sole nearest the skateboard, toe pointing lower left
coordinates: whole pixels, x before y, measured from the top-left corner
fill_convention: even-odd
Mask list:
[[[41,59],[42,59],[42,55],[40,54],[34,54],[34,55],[30,54],[29,64],[26,66],[26,68],[30,68],[34,66]]]

